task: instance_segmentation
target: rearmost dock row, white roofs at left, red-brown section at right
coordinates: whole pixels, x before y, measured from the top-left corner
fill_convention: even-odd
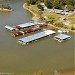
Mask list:
[[[16,26],[6,25],[5,28],[9,31],[17,31],[17,30],[28,28],[28,27],[31,27],[31,26],[44,27],[44,26],[47,26],[47,24],[45,24],[43,22],[40,22],[40,21],[30,21],[28,23],[24,23],[24,24],[20,24],[20,25],[16,25]]]

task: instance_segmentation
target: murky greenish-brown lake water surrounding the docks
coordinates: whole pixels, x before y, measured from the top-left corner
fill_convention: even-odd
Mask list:
[[[48,37],[38,42],[21,46],[5,25],[17,25],[31,20],[31,13],[22,8],[25,0],[11,0],[14,11],[0,12],[0,72],[32,74],[42,70],[44,73],[69,71],[74,69],[74,35],[63,43]]]

